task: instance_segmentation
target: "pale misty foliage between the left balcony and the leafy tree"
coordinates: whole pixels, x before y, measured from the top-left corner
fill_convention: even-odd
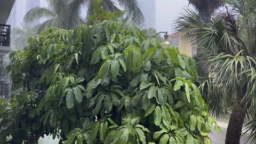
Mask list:
[[[29,27],[23,25],[22,28],[12,28],[11,45],[13,50],[27,46],[28,38],[36,35],[37,26]]]

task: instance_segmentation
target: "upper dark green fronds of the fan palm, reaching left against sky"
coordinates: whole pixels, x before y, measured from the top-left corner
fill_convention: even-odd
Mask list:
[[[193,10],[185,11],[175,22],[175,29],[185,33],[185,37],[191,39],[192,45],[203,47],[205,50],[203,53],[236,54],[243,49],[241,39],[231,33],[222,20],[214,20],[209,26]]]

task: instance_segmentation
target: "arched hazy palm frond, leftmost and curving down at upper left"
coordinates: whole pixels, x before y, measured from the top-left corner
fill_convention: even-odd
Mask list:
[[[43,17],[55,18],[57,17],[57,15],[55,15],[52,11],[46,9],[45,7],[35,7],[26,13],[25,17],[23,18],[23,21],[25,23],[29,23],[33,22],[34,20],[41,19]]]

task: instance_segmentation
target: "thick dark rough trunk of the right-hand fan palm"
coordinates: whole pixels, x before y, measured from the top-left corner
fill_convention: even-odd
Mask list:
[[[245,102],[241,102],[243,95],[238,95],[230,115],[226,134],[226,144],[239,144],[245,118]]]

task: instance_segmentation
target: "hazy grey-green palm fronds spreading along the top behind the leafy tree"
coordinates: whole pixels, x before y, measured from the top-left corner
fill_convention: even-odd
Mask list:
[[[117,9],[114,0],[48,0],[52,10],[44,7],[35,7],[27,12],[24,17],[25,23],[33,22],[36,19],[48,18],[39,25],[38,32],[50,26],[57,26],[63,29],[74,29],[77,25],[85,23],[81,17],[82,9],[87,6],[87,17],[92,14],[92,2],[98,2],[103,9],[115,11]],[[139,9],[137,0],[118,0],[117,3],[124,7],[126,14],[131,16],[135,25],[141,25],[144,18]]]

